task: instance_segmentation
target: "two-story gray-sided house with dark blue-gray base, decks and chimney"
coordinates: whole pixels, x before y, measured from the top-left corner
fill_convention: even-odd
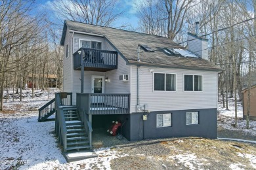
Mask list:
[[[217,138],[221,68],[207,60],[207,39],[188,33],[186,49],[156,35],[66,20],[60,44],[68,93],[56,95],[56,101],[76,105],[89,146],[92,129],[108,127],[112,120],[123,123],[122,135],[129,141]],[[59,140],[67,140],[64,152],[83,148],[68,148],[70,139],[59,130],[70,127],[59,117],[67,112],[60,107],[56,118]]]

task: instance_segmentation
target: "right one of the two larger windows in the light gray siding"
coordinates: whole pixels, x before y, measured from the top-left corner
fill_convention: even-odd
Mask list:
[[[203,91],[203,81],[200,75],[184,75],[184,91]]]

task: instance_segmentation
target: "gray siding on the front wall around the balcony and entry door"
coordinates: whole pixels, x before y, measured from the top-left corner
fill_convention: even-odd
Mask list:
[[[74,52],[79,49],[79,39],[86,39],[88,41],[98,41],[102,42],[102,50],[115,51],[114,48],[106,41],[104,37],[94,37],[91,35],[74,35]],[[72,66],[73,69],[73,66]],[[130,93],[130,81],[122,82],[119,81],[119,75],[129,75],[130,76],[130,66],[126,65],[126,62],[121,56],[118,55],[117,69],[107,72],[96,72],[96,71],[85,71],[84,75],[84,93],[91,93],[91,77],[92,76],[104,76],[108,77],[110,82],[104,82],[104,93]],[[74,88],[73,92],[73,103],[76,103],[76,93],[81,92],[81,71],[74,71]]]

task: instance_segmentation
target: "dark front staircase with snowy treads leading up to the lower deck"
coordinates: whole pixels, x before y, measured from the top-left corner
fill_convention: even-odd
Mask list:
[[[91,151],[85,124],[81,121],[76,107],[60,107],[60,112],[60,115],[64,116],[63,126],[66,127],[66,137],[62,139],[66,160],[70,162],[96,157],[95,152]]]

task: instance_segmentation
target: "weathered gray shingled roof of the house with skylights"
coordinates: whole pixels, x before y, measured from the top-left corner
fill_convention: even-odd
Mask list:
[[[182,56],[167,55],[163,52],[163,48],[184,47],[164,37],[68,20],[65,21],[65,24],[74,31],[104,35],[104,37],[116,47],[121,56],[126,59],[128,64],[221,71],[221,67],[213,65],[213,63],[202,58],[184,58]],[[62,33],[62,43],[64,42],[64,36],[66,34],[65,24],[64,33]],[[142,52],[140,53],[140,61],[137,61],[138,44],[147,44],[150,48],[154,49],[155,52]]]

